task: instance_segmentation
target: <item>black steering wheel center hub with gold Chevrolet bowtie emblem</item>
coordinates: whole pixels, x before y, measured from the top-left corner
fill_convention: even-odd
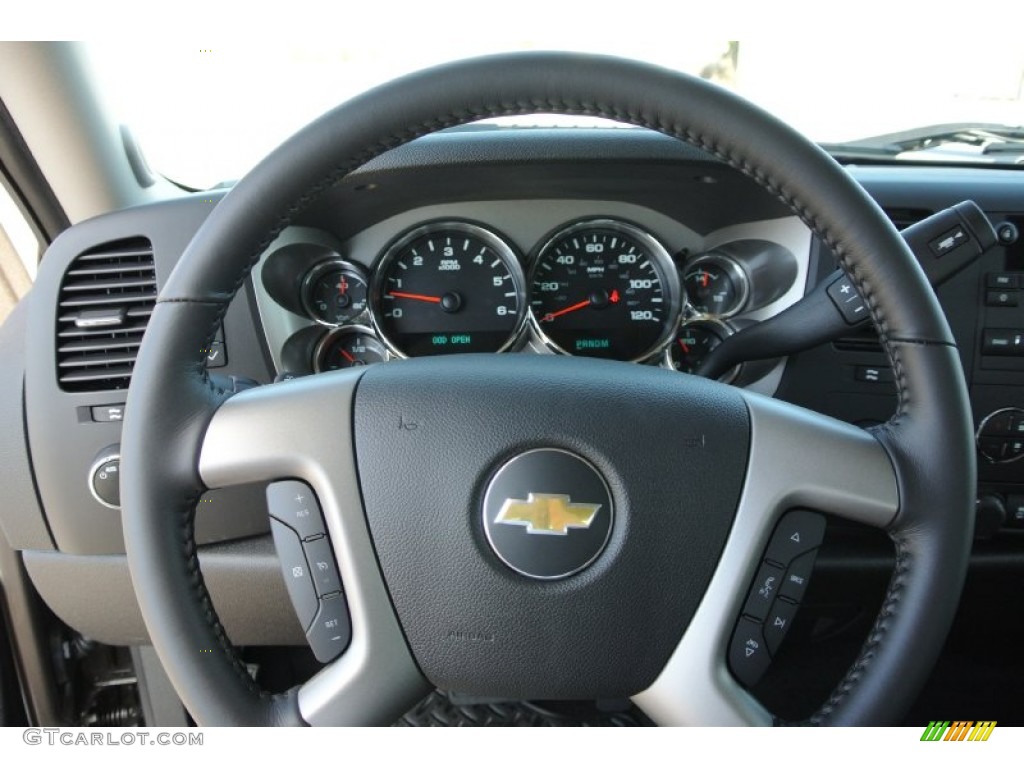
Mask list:
[[[608,360],[452,355],[371,367],[353,414],[370,534],[432,683],[527,698],[650,684],[735,514],[736,390]]]

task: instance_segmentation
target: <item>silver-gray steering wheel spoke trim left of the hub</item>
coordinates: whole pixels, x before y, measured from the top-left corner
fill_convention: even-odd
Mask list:
[[[362,511],[351,424],[361,375],[335,371],[236,395],[214,414],[199,462],[210,487],[294,477],[319,499],[352,642],[299,690],[310,725],[393,722],[429,690],[391,608]]]

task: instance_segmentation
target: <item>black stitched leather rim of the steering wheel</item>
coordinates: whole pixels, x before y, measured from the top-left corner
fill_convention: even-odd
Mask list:
[[[528,53],[442,66],[342,104],[288,140],[210,214],[161,291],[123,432],[125,541],[151,638],[201,724],[299,725],[295,690],[257,688],[203,583],[193,530],[207,429],[228,393],[202,350],[260,254],[311,201],[387,150],[482,118],[610,118],[689,142],[785,203],[836,253],[866,301],[898,389],[885,449],[898,510],[896,566],[860,655],[813,724],[887,724],[923,684],[952,621],[970,552],[970,408],[943,312],[898,232],[815,144],[703,81],[598,55]],[[200,654],[200,649],[212,653]]]

